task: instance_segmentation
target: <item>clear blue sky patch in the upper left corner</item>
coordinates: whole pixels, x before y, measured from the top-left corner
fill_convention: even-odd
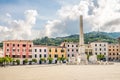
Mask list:
[[[42,26],[46,20],[55,18],[55,13],[59,8],[60,4],[55,0],[0,0],[0,14],[9,13],[13,15],[14,19],[24,18],[25,10],[37,10],[40,17],[37,20],[36,28]]]

